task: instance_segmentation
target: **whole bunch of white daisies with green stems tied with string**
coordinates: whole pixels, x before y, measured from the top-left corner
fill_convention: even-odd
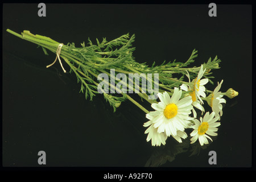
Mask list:
[[[47,51],[56,53],[55,61],[47,68],[59,60],[61,68],[67,72],[66,65],[62,63],[64,60],[69,73],[76,75],[77,82],[80,82],[80,92],[85,94],[86,99],[92,101],[96,94],[102,94],[114,111],[123,101],[133,102],[146,113],[149,121],[143,126],[147,127],[146,140],[151,140],[152,146],[166,144],[166,139],[171,136],[181,143],[188,137],[185,129],[192,129],[191,143],[199,140],[201,146],[208,144],[208,139],[212,140],[210,136],[216,136],[217,127],[221,125],[222,104],[226,103],[223,97],[238,95],[232,88],[220,92],[223,80],[217,82],[214,90],[205,87],[208,82],[214,84],[211,71],[220,68],[221,60],[216,56],[199,67],[189,68],[197,57],[195,49],[184,63],[174,60],[160,65],[154,62],[149,66],[138,63],[133,57],[135,35],[122,35],[110,42],[106,38],[101,42],[96,39],[96,44],[88,38],[88,43],[83,42],[78,48],[74,43],[64,45],[30,31],[23,31],[22,34],[9,29],[6,31],[38,44],[46,55]],[[143,103],[148,102],[152,111],[135,101],[131,97],[134,93],[146,101]],[[205,102],[212,110],[205,111]],[[200,119],[197,119],[197,111],[201,113]]]

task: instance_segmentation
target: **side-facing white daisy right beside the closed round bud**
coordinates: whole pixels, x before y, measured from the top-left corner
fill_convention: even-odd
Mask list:
[[[207,103],[210,107],[212,107],[212,111],[215,113],[215,116],[219,118],[222,116],[222,105],[221,103],[226,103],[226,100],[223,97],[221,92],[218,92],[221,88],[223,80],[221,80],[220,84],[214,89],[213,93],[209,94],[207,97]],[[220,113],[220,114],[219,114]]]

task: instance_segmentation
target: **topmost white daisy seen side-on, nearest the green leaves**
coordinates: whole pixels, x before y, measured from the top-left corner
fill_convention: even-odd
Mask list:
[[[201,80],[201,77],[203,77],[204,72],[206,69],[203,70],[203,65],[201,65],[200,71],[197,75],[197,77],[192,81],[193,86],[189,86],[189,85],[185,85],[182,84],[180,86],[181,89],[185,90],[185,91],[191,91],[191,93],[189,93],[189,95],[192,97],[192,105],[194,107],[196,107],[197,109],[202,111],[202,114],[204,112],[204,107],[201,105],[203,104],[203,101],[201,100],[201,97],[206,97],[205,95],[205,84],[207,84],[208,82],[208,78],[204,78]],[[189,73],[187,74],[188,80],[190,82],[190,77],[189,77]],[[194,117],[196,117],[196,110],[193,108],[193,115]]]

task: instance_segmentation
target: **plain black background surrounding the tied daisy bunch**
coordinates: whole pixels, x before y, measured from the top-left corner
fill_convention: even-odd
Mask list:
[[[209,17],[207,4],[46,3],[46,17],[38,10],[38,4],[3,4],[3,166],[38,167],[43,150],[49,167],[143,167],[152,155],[159,156],[154,162],[162,167],[251,167],[250,5],[217,5],[217,17]],[[184,62],[195,48],[199,56],[192,66],[216,55],[222,60],[221,69],[213,71],[215,85],[207,88],[213,90],[223,79],[221,91],[233,88],[239,96],[226,98],[218,136],[208,146],[189,146],[189,138],[180,145],[169,138],[165,147],[152,147],[143,111],[126,101],[113,113],[100,94],[85,100],[75,75],[64,74],[59,63],[46,68],[53,53],[44,55],[7,28],[76,46],[88,37],[96,43],[96,38],[112,40],[129,32],[136,35],[135,59],[149,65]],[[190,156],[193,149],[200,149],[199,155]],[[217,165],[209,165],[209,151],[216,151]]]

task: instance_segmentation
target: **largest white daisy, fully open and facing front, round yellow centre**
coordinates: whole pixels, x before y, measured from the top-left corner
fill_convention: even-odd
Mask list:
[[[158,93],[160,102],[151,105],[156,111],[148,114],[152,115],[151,120],[158,133],[166,133],[168,137],[176,136],[177,130],[184,131],[189,127],[188,115],[193,108],[192,99],[188,96],[180,100],[181,94],[182,91],[178,88],[174,88],[171,98],[167,92]]]

